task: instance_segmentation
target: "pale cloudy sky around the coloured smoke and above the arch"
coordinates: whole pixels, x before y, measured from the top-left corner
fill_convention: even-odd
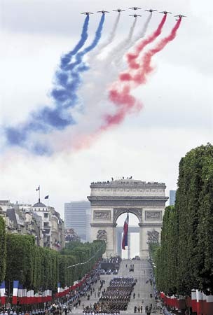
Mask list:
[[[133,91],[143,104],[141,111],[97,132],[100,114],[114,111],[106,96],[105,78],[118,77],[110,62],[103,66],[107,57],[104,52],[97,57],[97,46],[84,57],[91,69],[82,73],[80,101],[71,111],[77,123],[48,134],[30,134],[27,141],[27,145],[41,141],[47,152],[49,146],[53,151],[38,155],[25,146],[8,145],[6,128],[21,127],[32,113],[53,106],[51,91],[60,57],[81,36],[85,16],[80,13],[130,6],[143,8],[138,11],[142,17],[137,19],[134,34],[141,31],[148,18],[144,10],[150,7],[187,15],[174,41],[153,57],[155,70],[147,83]],[[167,196],[175,190],[181,157],[191,148],[212,142],[212,1],[206,0],[203,6],[198,0],[0,0],[0,11],[0,200],[34,204],[40,185],[41,200],[49,195],[49,204],[63,216],[64,202],[86,200],[93,181],[132,176],[166,183]],[[133,22],[130,13],[122,13],[106,55],[127,38]],[[109,38],[116,15],[106,15],[99,45]],[[173,15],[168,15],[160,38],[174,26]],[[92,42],[100,18],[98,13],[90,16],[87,43]],[[161,18],[153,14],[146,35]],[[124,57],[120,67],[127,69]]]

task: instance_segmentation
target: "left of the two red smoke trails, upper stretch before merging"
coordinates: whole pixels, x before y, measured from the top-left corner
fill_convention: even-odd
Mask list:
[[[163,29],[163,25],[165,25],[166,18],[167,18],[167,15],[166,14],[163,15],[163,19],[161,20],[160,24],[158,25],[158,28],[156,29],[156,31],[154,31],[153,34],[151,34],[149,37],[144,39],[144,41],[139,43],[139,45],[137,45],[137,47],[135,48],[134,54],[129,53],[127,55],[128,64],[129,64],[130,69],[139,69],[139,64],[137,64],[137,62],[135,62],[135,59],[137,59],[139,57],[139,54],[142,52],[142,50],[144,49],[144,47],[146,45],[149,45],[149,43],[152,43],[153,41],[155,41],[155,39],[161,34],[161,31]]]

